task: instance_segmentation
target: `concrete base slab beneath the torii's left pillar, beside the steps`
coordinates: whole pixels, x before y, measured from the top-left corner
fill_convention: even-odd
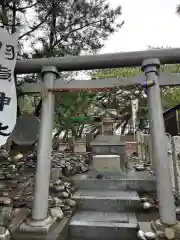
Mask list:
[[[23,222],[20,228],[13,234],[13,240],[65,240],[68,236],[69,219],[57,221],[56,218],[47,218],[41,222],[31,220]]]

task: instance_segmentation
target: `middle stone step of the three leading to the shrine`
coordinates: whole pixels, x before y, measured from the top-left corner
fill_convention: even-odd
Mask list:
[[[136,191],[78,190],[72,198],[78,209],[102,212],[134,211],[140,203]]]

